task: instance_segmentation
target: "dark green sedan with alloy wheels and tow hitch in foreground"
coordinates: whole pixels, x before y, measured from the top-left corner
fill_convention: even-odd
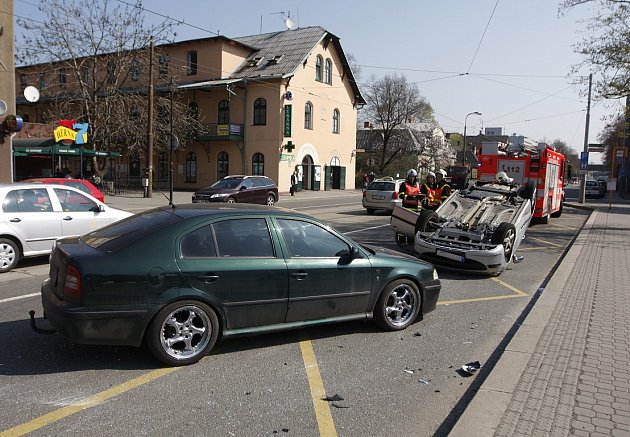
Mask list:
[[[360,245],[325,223],[260,205],[177,205],[57,241],[42,303],[71,341],[140,346],[191,364],[218,339],[374,320],[408,327],[435,309],[429,263]]]

